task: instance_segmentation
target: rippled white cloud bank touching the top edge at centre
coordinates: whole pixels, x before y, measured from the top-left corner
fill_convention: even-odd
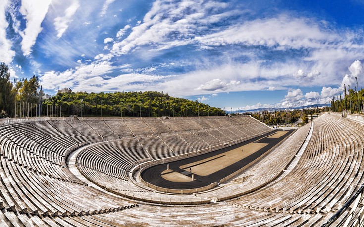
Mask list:
[[[196,34],[206,30],[211,23],[239,14],[238,11],[232,11],[219,16],[211,15],[211,12],[215,13],[213,9],[223,8],[224,5],[219,2],[209,4],[204,1],[156,0],[145,14],[143,22],[133,27],[126,39],[115,43],[112,51],[115,55],[123,55],[143,45],[158,51],[193,44]]]

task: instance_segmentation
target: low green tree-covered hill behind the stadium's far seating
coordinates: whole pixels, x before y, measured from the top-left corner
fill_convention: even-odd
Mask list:
[[[216,107],[156,91],[115,93],[60,93],[43,100],[43,105],[57,106],[63,116],[216,116],[224,111]],[[54,107],[53,107],[54,108]]]

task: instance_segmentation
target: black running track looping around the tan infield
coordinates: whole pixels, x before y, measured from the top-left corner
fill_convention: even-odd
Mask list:
[[[268,143],[268,145],[266,145],[265,147],[261,148],[260,150],[258,150],[257,152],[249,155],[248,157],[239,160],[237,162],[235,162],[234,164],[231,164],[228,167],[225,167],[219,171],[216,171],[210,175],[207,176],[200,176],[195,174],[195,181],[191,181],[191,182],[172,182],[172,181],[168,181],[164,178],[161,177],[161,173],[167,169],[167,163],[164,164],[160,164],[160,165],[156,165],[156,166],[152,166],[149,167],[147,169],[145,169],[142,173],[141,173],[141,177],[144,179],[144,181],[149,182],[153,185],[156,185],[158,187],[163,187],[163,188],[169,188],[169,189],[194,189],[194,188],[199,188],[199,187],[204,187],[207,186],[211,183],[214,182],[219,182],[221,179],[223,179],[226,176],[229,176],[230,174],[234,173],[235,171],[241,169],[242,167],[248,165],[249,163],[251,163],[252,161],[254,161],[255,159],[257,159],[258,157],[260,157],[261,155],[263,155],[265,152],[267,152],[270,148],[274,147],[276,144],[278,144],[280,141],[282,141],[284,138],[286,138],[287,136],[289,136],[294,130],[288,130],[289,132],[284,134],[283,136],[279,137],[279,138],[267,138],[266,136],[273,134],[277,131],[280,130],[274,130],[271,131],[267,134],[255,137],[253,139],[238,143],[238,144],[234,144],[232,146],[226,146],[223,147],[219,150],[215,150],[206,154],[202,154],[199,156],[195,156],[195,157],[190,157],[190,158],[186,158],[186,159],[182,159],[182,160],[178,160],[178,161],[174,161],[174,162],[169,162],[169,168],[171,170],[174,170],[176,172],[182,173],[184,172],[186,174],[186,171],[183,169],[180,169],[179,167],[185,164],[189,164],[189,163],[193,163],[193,162],[197,162],[215,155],[219,155],[221,154],[221,156],[224,155],[225,152],[230,151],[232,149],[241,147],[243,145],[246,145],[248,143],[257,141],[259,139],[261,139],[259,142],[261,143]],[[217,157],[219,158],[219,157]],[[216,159],[217,159],[216,158]],[[262,167],[261,171],[264,171],[264,167]],[[192,177],[192,174],[188,174],[187,176]]]

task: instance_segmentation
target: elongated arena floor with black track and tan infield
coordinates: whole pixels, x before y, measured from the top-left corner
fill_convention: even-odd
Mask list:
[[[293,131],[275,130],[209,153],[146,166],[140,177],[148,187],[167,193],[209,190],[260,160]]]

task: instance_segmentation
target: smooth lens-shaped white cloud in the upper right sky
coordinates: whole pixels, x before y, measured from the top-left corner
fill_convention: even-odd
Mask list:
[[[326,41],[336,41],[338,38],[336,34],[322,30],[314,21],[283,14],[232,25],[221,32],[196,39],[204,45],[211,46],[243,44],[277,49],[300,49],[317,48]]]

